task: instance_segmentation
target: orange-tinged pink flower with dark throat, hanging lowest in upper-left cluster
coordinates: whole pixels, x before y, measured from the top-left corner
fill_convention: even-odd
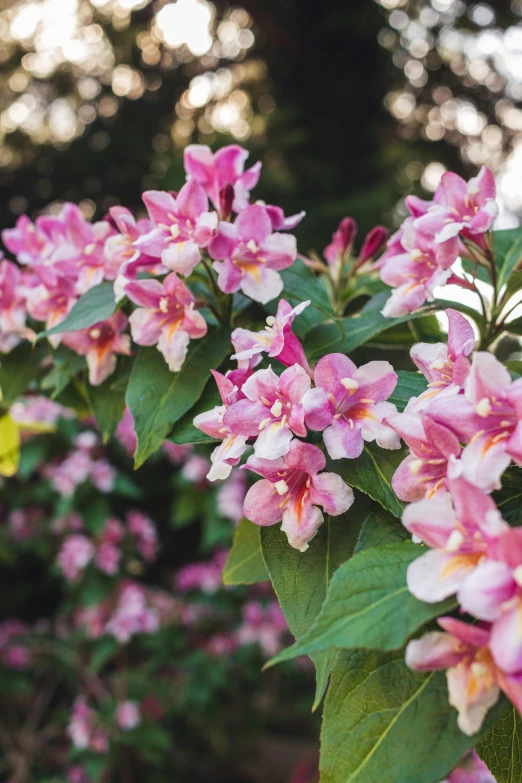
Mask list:
[[[64,345],[86,357],[91,386],[99,386],[112,375],[116,369],[117,354],[130,354],[130,338],[121,334],[126,326],[127,318],[118,310],[107,321],[64,334]]]

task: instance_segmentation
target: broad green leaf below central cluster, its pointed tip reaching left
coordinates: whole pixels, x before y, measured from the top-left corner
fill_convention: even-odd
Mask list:
[[[409,592],[408,566],[424,551],[404,541],[367,549],[343,563],[311,629],[271,663],[331,647],[395,650],[428,620],[454,609],[453,599],[427,604]]]

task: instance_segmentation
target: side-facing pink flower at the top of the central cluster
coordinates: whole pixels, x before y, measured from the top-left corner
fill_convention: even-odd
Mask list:
[[[266,351],[270,358],[277,358],[286,367],[300,364],[311,375],[303,346],[292,331],[294,318],[309,304],[310,300],[307,300],[292,308],[286,299],[281,299],[275,316],[269,315],[266,319],[266,329],[260,332],[234,329],[232,345],[236,353],[232,359],[237,359],[239,367],[255,367],[262,359],[261,354]]]

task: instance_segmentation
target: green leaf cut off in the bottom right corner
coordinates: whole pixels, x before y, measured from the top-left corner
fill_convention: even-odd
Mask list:
[[[520,783],[522,780],[522,718],[509,704],[477,751],[497,783]]]

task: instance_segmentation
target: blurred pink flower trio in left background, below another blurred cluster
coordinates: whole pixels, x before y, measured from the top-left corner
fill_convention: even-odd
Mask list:
[[[120,570],[123,548],[135,547],[143,560],[152,563],[158,552],[158,535],[154,522],[140,511],[130,510],[124,525],[119,519],[107,519],[101,532],[89,538],[82,532],[82,521],[74,515],[75,532],[67,535],[61,545],[57,563],[65,578],[78,580],[92,561],[102,573],[115,576]],[[68,524],[70,528],[70,523]],[[76,532],[77,531],[77,532]]]

